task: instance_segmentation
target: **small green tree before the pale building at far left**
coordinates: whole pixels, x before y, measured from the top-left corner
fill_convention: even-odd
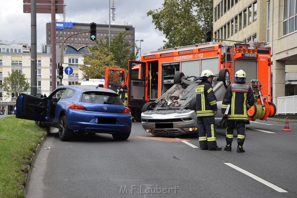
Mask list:
[[[25,74],[20,74],[18,71],[8,72],[8,76],[4,77],[2,87],[5,92],[5,98],[11,96],[17,97],[19,93],[23,93],[28,90],[30,83],[26,80]]]

